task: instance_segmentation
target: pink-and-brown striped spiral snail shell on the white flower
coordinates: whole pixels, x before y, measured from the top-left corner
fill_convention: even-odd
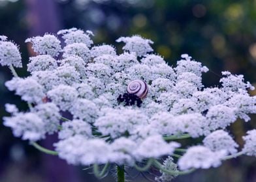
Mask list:
[[[144,81],[136,79],[129,83],[127,92],[129,94],[135,94],[140,99],[144,99],[148,94],[148,85]]]

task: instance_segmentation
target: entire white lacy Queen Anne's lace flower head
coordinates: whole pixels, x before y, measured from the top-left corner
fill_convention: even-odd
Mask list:
[[[30,106],[24,112],[6,105],[11,116],[3,118],[4,125],[15,136],[35,142],[58,133],[56,152],[70,164],[136,166],[153,159],[163,174],[157,181],[170,181],[183,174],[179,170],[217,167],[227,155],[238,155],[238,144],[225,129],[256,113],[256,97],[248,94],[254,88],[242,75],[223,72],[221,86],[205,88],[206,66],[187,54],[170,66],[141,36],[119,38],[125,45],[118,55],[113,45],[93,45],[91,31],[58,34],[65,47],[53,34],[27,39],[38,53],[27,65],[31,75],[5,83]],[[0,64],[22,65],[17,46],[5,36],[0,36]],[[127,89],[132,81],[138,83]],[[128,92],[137,85],[146,90]],[[199,136],[202,144],[182,149],[176,164],[170,157],[157,163],[176,156],[180,144],[172,140]],[[255,136],[255,130],[244,136],[240,153],[255,155]]]

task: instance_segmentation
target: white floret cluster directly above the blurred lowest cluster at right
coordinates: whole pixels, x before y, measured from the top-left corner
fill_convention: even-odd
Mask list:
[[[202,141],[204,146],[210,148],[212,151],[226,150],[228,153],[236,153],[238,144],[229,136],[229,133],[221,129],[212,132],[206,136]]]

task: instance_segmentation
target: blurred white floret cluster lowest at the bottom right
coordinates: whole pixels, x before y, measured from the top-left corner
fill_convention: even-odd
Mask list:
[[[204,146],[193,146],[178,161],[181,170],[190,168],[207,169],[217,167],[221,164],[221,159],[225,156],[225,151],[211,151]]]

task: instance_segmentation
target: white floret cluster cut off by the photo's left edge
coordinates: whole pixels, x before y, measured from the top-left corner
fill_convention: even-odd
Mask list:
[[[22,67],[22,57],[18,46],[12,42],[6,41],[6,36],[0,38],[0,64],[1,66]]]

